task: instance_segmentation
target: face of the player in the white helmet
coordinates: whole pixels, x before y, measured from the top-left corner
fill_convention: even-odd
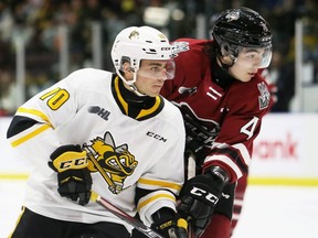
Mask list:
[[[142,60],[137,71],[135,85],[141,94],[156,97],[159,95],[165,80],[172,79],[173,76],[173,62]]]

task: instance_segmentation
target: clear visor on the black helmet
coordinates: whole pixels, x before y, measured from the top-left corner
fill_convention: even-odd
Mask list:
[[[241,47],[237,63],[246,63],[257,68],[266,68],[269,66],[272,61],[272,47],[266,48],[253,48],[253,47]]]

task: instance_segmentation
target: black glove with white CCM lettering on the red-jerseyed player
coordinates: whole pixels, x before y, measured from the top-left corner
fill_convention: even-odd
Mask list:
[[[219,166],[211,166],[204,174],[184,183],[180,192],[178,213],[190,221],[195,237],[199,237],[209,225],[227,181],[225,171]]]

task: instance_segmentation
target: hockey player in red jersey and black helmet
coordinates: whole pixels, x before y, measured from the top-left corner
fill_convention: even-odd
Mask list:
[[[174,46],[176,76],[161,95],[180,108],[186,153],[197,162],[178,208],[190,217],[195,237],[227,238],[234,198],[245,193],[253,141],[272,104],[259,74],[271,63],[271,30],[257,12],[229,9],[215,21],[212,40],[179,39]]]

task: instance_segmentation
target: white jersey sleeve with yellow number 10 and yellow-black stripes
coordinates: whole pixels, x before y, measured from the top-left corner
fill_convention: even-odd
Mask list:
[[[9,140],[17,151],[31,160],[31,167],[52,173],[47,166],[50,154],[63,144],[59,138],[59,130],[55,129],[71,121],[78,111],[83,100],[81,90],[77,90],[81,82],[88,77],[98,77],[100,73],[102,71],[96,74],[89,69],[74,72],[18,108],[14,116],[26,117],[35,123]]]

